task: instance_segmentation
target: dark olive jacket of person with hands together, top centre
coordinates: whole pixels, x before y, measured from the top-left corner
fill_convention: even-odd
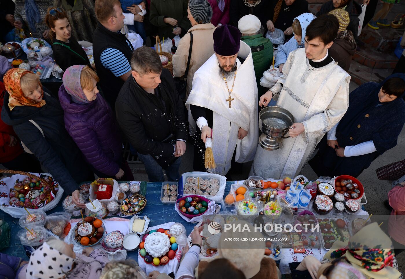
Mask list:
[[[180,37],[184,36],[191,28],[190,20],[187,18],[188,0],[152,0],[149,9],[149,20],[151,24],[158,27],[158,35],[162,38],[174,38],[173,28],[170,24],[164,23],[165,17],[172,17],[177,20],[177,26],[181,28]]]

